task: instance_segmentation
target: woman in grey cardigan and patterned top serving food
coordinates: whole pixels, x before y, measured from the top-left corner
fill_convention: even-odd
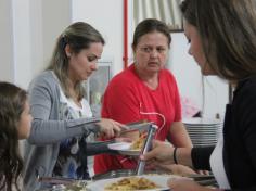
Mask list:
[[[88,179],[88,135],[111,138],[120,131],[121,124],[92,117],[85,99],[82,82],[97,71],[104,43],[89,24],[72,24],[57,38],[48,69],[30,84],[34,120],[25,144],[24,190],[44,187],[38,176]]]

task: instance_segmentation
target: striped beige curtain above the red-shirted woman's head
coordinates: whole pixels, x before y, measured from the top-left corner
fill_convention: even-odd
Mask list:
[[[182,0],[133,0],[135,26],[145,18],[157,18],[171,29],[182,29],[179,4]]]

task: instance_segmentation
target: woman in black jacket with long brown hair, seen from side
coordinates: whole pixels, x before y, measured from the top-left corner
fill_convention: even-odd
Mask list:
[[[171,148],[155,141],[142,158],[212,170],[220,189],[256,190],[256,1],[184,0],[189,53],[203,75],[234,85],[223,135],[214,148]],[[190,180],[169,182],[174,191],[207,191]]]

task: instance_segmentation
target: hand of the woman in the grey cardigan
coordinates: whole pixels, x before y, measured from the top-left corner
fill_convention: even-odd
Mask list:
[[[108,118],[102,118],[97,125],[100,126],[100,132],[106,138],[113,138],[114,136],[119,135],[121,128],[125,128],[125,125]]]

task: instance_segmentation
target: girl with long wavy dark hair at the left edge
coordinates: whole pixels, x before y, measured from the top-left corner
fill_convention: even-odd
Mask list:
[[[23,160],[18,140],[30,132],[31,115],[27,93],[9,82],[0,82],[0,190],[20,190]]]

